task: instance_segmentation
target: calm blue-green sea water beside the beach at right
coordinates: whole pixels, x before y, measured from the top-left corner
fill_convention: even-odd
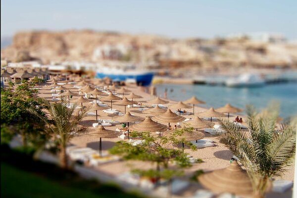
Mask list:
[[[280,116],[283,118],[297,115],[297,83],[268,84],[257,88],[228,88],[210,85],[155,85],[157,95],[164,97],[167,88],[167,98],[186,100],[195,95],[206,102],[201,107],[221,107],[226,103],[240,108],[246,104],[253,104],[257,108],[264,108],[274,100],[281,105]]]

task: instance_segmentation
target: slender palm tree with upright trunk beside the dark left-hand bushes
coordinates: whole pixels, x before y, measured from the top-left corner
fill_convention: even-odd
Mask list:
[[[64,168],[68,168],[67,144],[75,135],[85,133],[88,129],[85,126],[79,125],[86,115],[88,108],[79,109],[75,112],[76,104],[71,108],[68,108],[67,104],[67,102],[49,103],[46,107],[48,115],[43,118],[54,140],[58,144],[61,166]]]

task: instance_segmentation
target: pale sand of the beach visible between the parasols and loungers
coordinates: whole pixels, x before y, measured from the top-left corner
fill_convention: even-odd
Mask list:
[[[73,85],[65,84],[63,85],[65,88],[70,89],[71,92],[78,93],[78,89],[74,88]],[[148,104],[146,103],[147,100],[155,98],[155,96],[151,96],[148,93],[145,93],[143,91],[143,88],[137,87],[136,85],[127,85],[125,86],[126,89],[132,91],[136,95],[140,95],[143,98],[142,99],[134,99],[135,101],[140,101],[143,104]],[[50,85],[48,84],[48,87],[42,87],[41,90],[39,90],[39,97],[45,98],[45,99],[52,99],[50,93]],[[78,96],[73,96],[73,99],[77,99]],[[72,99],[72,100],[73,100]],[[71,101],[71,100],[70,100]],[[168,104],[165,104],[166,106],[169,106],[170,104],[176,103],[177,101],[172,101],[169,100],[170,102]],[[207,101],[206,101],[207,102]],[[107,105],[110,105],[110,102],[103,102],[106,103]],[[86,104],[84,104],[86,105]],[[90,104],[91,105],[91,104]],[[118,111],[124,112],[124,106],[120,105],[112,105],[113,108],[117,109]],[[171,110],[177,110],[177,109],[171,109]],[[195,114],[201,111],[204,111],[206,109],[203,109],[199,107],[198,105],[195,106]],[[126,108],[126,111],[133,113],[136,116],[148,116],[150,114],[144,114],[138,110],[138,108]],[[193,111],[193,109],[187,109],[187,111]],[[99,119],[112,119],[114,114],[106,114],[103,113],[102,111],[98,111]],[[184,116],[186,118],[193,118],[193,115],[186,115]],[[236,117],[235,115],[230,115],[230,120],[234,120]],[[83,119],[83,122],[81,123],[84,126],[89,127],[89,132],[95,132],[96,128],[92,126],[93,123],[96,123],[96,116],[86,116]],[[168,125],[168,123],[162,123],[165,125]],[[244,123],[245,124],[245,123]],[[175,123],[171,123],[172,126],[175,125]],[[115,125],[115,126],[110,126],[110,127],[105,127],[108,130],[115,130],[116,128],[121,128],[121,125]],[[200,130],[200,132],[204,133],[203,130]],[[196,151],[192,151],[189,148],[185,148],[185,152],[189,153],[195,158],[201,158],[203,160],[202,163],[194,163],[191,168],[185,169],[185,176],[184,178],[191,177],[194,173],[194,171],[198,169],[202,169],[204,172],[207,171],[212,171],[216,169],[221,169],[225,168],[230,165],[230,158],[233,156],[231,151],[226,148],[223,144],[219,142],[219,139],[217,137],[213,137],[208,133],[204,133],[205,138],[210,139],[214,141],[215,147],[208,147],[208,148],[201,148],[197,149]],[[102,138],[102,150],[103,152],[108,150],[109,148],[112,148],[116,142],[121,141],[122,139],[120,138],[114,138],[114,139],[104,139]],[[125,140],[127,141],[127,140]],[[81,135],[74,137],[71,140],[71,144],[79,146],[79,147],[89,147],[93,149],[99,149],[99,138],[93,138],[89,136],[88,134]],[[181,145],[180,145],[181,146]],[[150,168],[152,167],[151,164],[146,163],[146,162],[140,162],[140,161],[116,161],[116,162],[110,162],[106,164],[102,164],[99,166],[96,166],[97,170],[103,171],[108,175],[119,175],[123,174],[126,172],[129,172],[131,168]],[[285,172],[285,174],[277,179],[283,179],[283,180],[294,180],[294,166],[289,167],[288,171]],[[194,187],[193,187],[194,185]],[[188,197],[188,196],[193,196],[191,192],[195,192],[197,188],[201,188],[201,186],[197,184],[191,185],[192,187],[189,188],[187,192],[185,192],[182,196],[183,197]],[[196,188],[197,187],[197,188]],[[192,194],[192,195],[191,195]]]

